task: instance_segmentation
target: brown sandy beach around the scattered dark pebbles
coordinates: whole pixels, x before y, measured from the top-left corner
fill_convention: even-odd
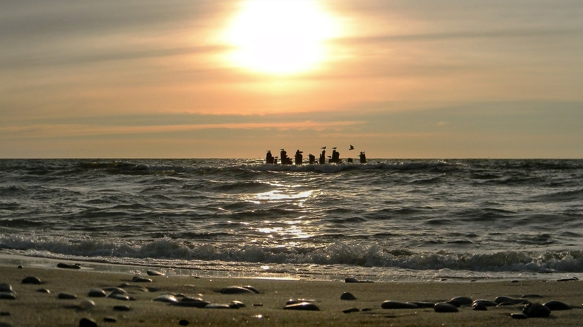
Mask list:
[[[262,278],[230,278],[199,276],[148,276],[152,282],[134,282],[134,273],[97,272],[54,267],[0,266],[0,283],[12,286],[16,298],[0,300],[2,326],[79,326],[90,318],[98,326],[580,326],[583,318],[583,282],[573,280],[449,281],[442,282],[374,282],[346,283],[342,280],[282,280]],[[163,272],[163,269],[159,269]],[[41,284],[25,284],[34,276]],[[252,286],[260,293],[222,294],[229,286]],[[89,297],[90,289],[122,287],[132,300]],[[50,293],[41,293],[47,289]],[[341,300],[350,292],[356,300]],[[74,294],[76,299],[59,298],[60,293]],[[106,292],[107,293],[107,292]],[[183,307],[153,301],[161,294],[202,298],[209,303],[229,304],[241,301],[238,309]],[[535,295],[533,295],[535,294]],[[465,296],[473,300],[493,301],[498,296],[529,296],[533,303],[561,301],[572,310],[552,311],[546,318],[511,318],[521,312],[523,304],[472,310],[462,305],[458,312],[436,312],[433,308],[384,309],[384,301],[423,301],[438,303]],[[537,297],[535,297],[537,296]],[[85,307],[86,299],[94,307]],[[318,311],[283,310],[290,299],[313,300]],[[115,310],[124,305],[129,311]],[[358,311],[345,313],[350,308]],[[119,309],[119,308],[117,308]],[[107,321],[111,320],[111,321]]]

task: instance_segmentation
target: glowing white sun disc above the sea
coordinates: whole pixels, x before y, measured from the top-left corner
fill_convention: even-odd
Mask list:
[[[247,1],[225,32],[228,60],[248,71],[295,75],[326,58],[326,40],[335,34],[332,17],[316,1]]]

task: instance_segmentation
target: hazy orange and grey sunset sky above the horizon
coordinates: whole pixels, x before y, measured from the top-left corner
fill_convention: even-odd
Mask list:
[[[0,44],[2,158],[583,158],[580,0],[3,0]]]

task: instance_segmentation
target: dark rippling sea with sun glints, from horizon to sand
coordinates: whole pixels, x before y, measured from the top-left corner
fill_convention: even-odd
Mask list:
[[[369,280],[583,277],[583,160],[0,160],[0,254]]]

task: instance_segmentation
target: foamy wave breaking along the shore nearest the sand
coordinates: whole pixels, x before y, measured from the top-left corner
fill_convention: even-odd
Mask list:
[[[454,241],[455,242],[455,241]],[[62,237],[18,237],[2,235],[0,247],[22,251],[24,255],[63,258],[82,256],[91,261],[119,258],[175,259],[180,261],[222,261],[265,264],[349,265],[415,270],[472,270],[476,272],[583,272],[583,249],[560,251],[497,251],[486,253],[413,251],[408,248],[381,248],[375,244],[346,244],[337,241],[326,247],[261,247],[260,245],[203,244],[161,238],[145,243],[123,240]],[[109,259],[108,259],[109,258]]]

